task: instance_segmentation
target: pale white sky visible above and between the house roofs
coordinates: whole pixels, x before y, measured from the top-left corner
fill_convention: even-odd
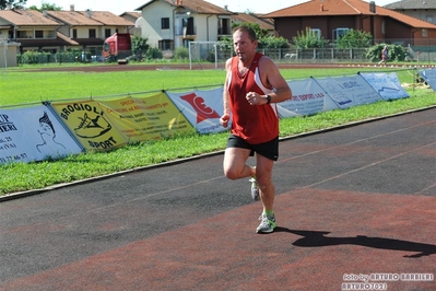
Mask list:
[[[85,11],[86,9],[91,9],[92,11],[109,11],[119,15],[126,11],[134,11],[137,8],[149,1],[150,0],[27,0],[27,4],[25,7],[36,5],[37,8],[40,8],[43,2],[45,2],[61,7],[62,10],[70,10],[70,5],[74,4],[74,9],[76,11]],[[369,2],[370,0],[365,1]],[[379,7],[393,3],[396,1],[397,0],[375,0],[376,5]],[[307,2],[307,0],[208,0],[208,2],[222,8],[227,5],[227,9],[233,12],[246,12],[249,10],[255,13],[266,14],[280,9]]]

